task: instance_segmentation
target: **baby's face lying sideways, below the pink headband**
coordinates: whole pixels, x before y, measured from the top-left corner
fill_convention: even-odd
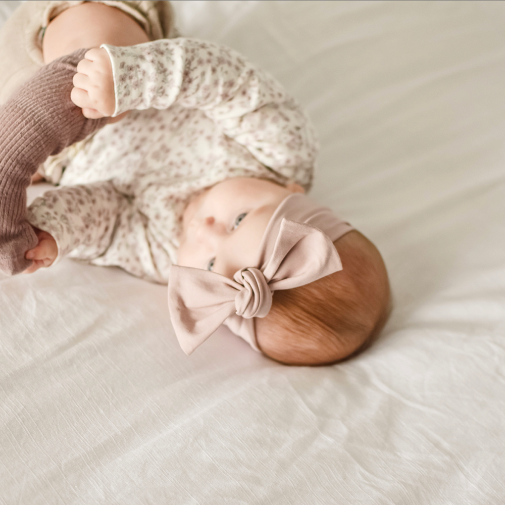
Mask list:
[[[183,215],[178,264],[226,277],[256,266],[267,224],[297,184],[279,186],[263,179],[227,179],[200,193]]]

